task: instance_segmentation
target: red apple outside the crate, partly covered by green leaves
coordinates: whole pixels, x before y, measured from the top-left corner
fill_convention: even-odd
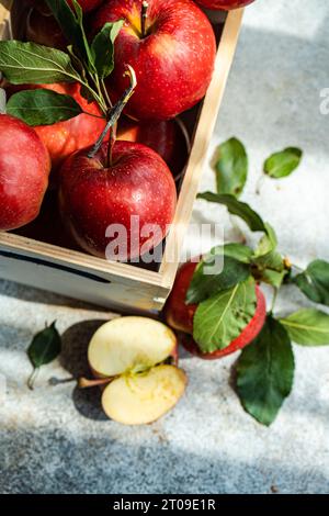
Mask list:
[[[227,348],[209,354],[204,354],[200,350],[197,344],[193,340],[192,337],[193,318],[197,309],[197,304],[189,305],[185,303],[186,292],[196,266],[197,263],[188,261],[180,268],[172,292],[164,306],[164,318],[170,327],[185,334],[182,335],[181,344],[188,351],[205,360],[216,360],[245,348],[257,337],[257,335],[262,329],[266,317],[265,298],[260,288],[257,285],[257,309],[249,324]]]

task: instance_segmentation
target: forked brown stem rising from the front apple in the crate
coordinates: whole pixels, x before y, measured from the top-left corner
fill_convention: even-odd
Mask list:
[[[129,101],[131,97],[133,96],[133,93],[135,91],[135,88],[137,86],[137,79],[136,79],[136,74],[135,74],[134,68],[132,66],[127,65],[127,71],[125,71],[125,75],[129,77],[131,85],[126,89],[126,91],[123,93],[122,98],[116,102],[116,104],[109,110],[106,127],[102,132],[101,136],[99,137],[99,139],[97,141],[97,143],[94,144],[94,146],[92,147],[90,153],[88,153],[89,158],[94,158],[97,153],[100,150],[106,134],[109,133],[111,127],[114,127],[116,125],[124,108],[126,106],[127,102]],[[111,136],[110,136],[110,142],[109,142],[109,146],[111,146],[111,149],[107,152],[107,156],[111,157],[110,162],[112,161],[112,149],[113,149],[113,146],[115,144],[115,136],[116,136],[116,131],[112,130],[111,131]]]

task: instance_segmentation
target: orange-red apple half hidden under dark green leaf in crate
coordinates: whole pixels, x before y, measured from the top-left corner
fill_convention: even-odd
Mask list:
[[[56,85],[24,85],[5,87],[9,96],[20,90],[45,88],[61,94],[69,94],[76,99],[81,108],[93,115],[101,115],[101,111],[95,102],[88,101],[80,93],[80,85],[56,83]],[[53,125],[38,125],[35,128],[42,142],[45,144],[50,155],[53,170],[52,182],[58,183],[58,170],[65,159],[76,150],[93,145],[105,127],[106,122],[102,119],[79,114],[65,122],[57,122]]]

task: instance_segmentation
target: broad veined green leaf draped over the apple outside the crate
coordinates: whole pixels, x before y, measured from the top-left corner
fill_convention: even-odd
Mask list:
[[[193,319],[193,338],[203,352],[225,349],[254,315],[257,296],[253,279],[203,301]]]

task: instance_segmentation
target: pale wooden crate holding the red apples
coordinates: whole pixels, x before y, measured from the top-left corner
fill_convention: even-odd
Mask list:
[[[13,0],[0,0],[0,38],[11,36]],[[215,25],[219,40],[215,71],[193,128],[192,149],[180,188],[172,229],[158,271],[106,261],[82,251],[37,242],[14,233],[0,233],[0,278],[54,291],[120,310],[157,311],[172,288],[207,147],[214,131],[227,77],[234,59],[243,10],[227,14]]]

